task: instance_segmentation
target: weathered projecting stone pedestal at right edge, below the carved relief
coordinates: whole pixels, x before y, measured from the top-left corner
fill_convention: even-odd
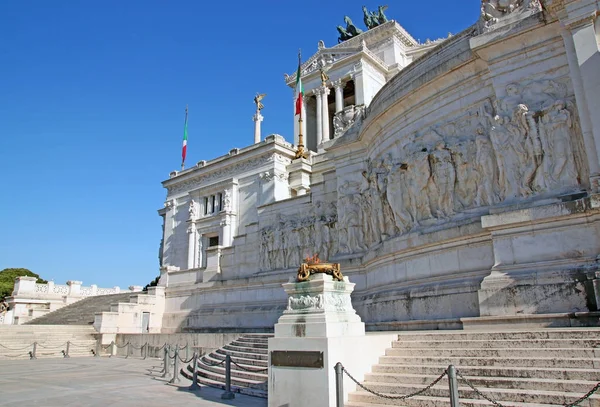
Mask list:
[[[495,264],[481,282],[480,315],[596,311],[598,208],[594,195],[483,216]]]

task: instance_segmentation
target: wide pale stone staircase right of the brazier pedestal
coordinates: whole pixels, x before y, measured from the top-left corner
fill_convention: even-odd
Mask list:
[[[363,385],[390,396],[413,393],[450,364],[489,398],[505,407],[572,403],[600,382],[600,329],[401,333]],[[350,372],[352,374],[352,372]],[[491,406],[459,379],[460,405]],[[450,406],[445,377],[423,395],[380,398],[364,390],[349,394],[346,407]],[[600,391],[580,406],[600,406]]]

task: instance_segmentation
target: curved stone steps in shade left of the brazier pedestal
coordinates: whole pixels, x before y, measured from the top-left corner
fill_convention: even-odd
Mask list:
[[[225,356],[230,355],[231,391],[267,398],[268,389],[268,339],[272,334],[246,334],[198,361],[198,383],[225,388]],[[236,366],[236,362],[239,366]],[[244,370],[247,369],[247,370]],[[262,371],[261,371],[262,370]],[[192,379],[193,366],[182,369],[182,374]]]

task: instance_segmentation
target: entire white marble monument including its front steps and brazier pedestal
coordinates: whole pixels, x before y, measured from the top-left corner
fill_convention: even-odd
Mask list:
[[[293,135],[263,136],[257,94],[254,144],[162,182],[158,286],[95,314],[103,343],[210,349],[186,374],[237,363],[273,407],[341,405],[338,362],[346,406],[576,402],[600,381],[599,7],[482,0],[425,43],[393,7],[345,17],[285,75]]]

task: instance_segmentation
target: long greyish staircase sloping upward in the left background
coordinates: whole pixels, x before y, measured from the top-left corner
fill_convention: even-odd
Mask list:
[[[111,304],[129,302],[132,293],[97,295],[84,298],[35,318],[27,325],[92,325],[97,312],[110,311]]]

